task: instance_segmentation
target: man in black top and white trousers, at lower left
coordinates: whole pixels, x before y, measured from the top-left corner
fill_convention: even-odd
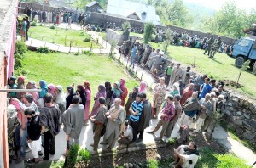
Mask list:
[[[39,115],[36,114],[35,109],[27,108],[25,109],[25,115],[27,117],[27,143],[29,148],[32,150],[33,159],[27,160],[27,162],[32,163],[40,161],[38,156],[38,151],[41,150],[41,126],[39,125]]]

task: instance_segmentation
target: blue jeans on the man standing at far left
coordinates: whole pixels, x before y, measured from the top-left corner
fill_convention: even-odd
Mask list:
[[[25,130],[21,129],[21,125],[17,126],[15,131],[15,142],[18,148],[20,148],[20,157],[25,157],[27,140],[27,126]]]

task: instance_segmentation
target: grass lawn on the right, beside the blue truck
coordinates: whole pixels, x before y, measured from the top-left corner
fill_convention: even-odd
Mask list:
[[[161,44],[152,42],[151,45],[154,48],[162,49]],[[201,74],[208,74],[217,80],[237,81],[240,69],[234,65],[235,59],[225,53],[216,53],[214,59],[209,59],[207,55],[203,54],[204,50],[172,45],[168,47],[168,52],[171,59],[181,62],[183,66],[193,64],[195,59],[194,70]],[[239,83],[243,87],[237,89],[238,91],[246,93],[250,98],[256,98],[256,76],[250,72],[242,72]]]

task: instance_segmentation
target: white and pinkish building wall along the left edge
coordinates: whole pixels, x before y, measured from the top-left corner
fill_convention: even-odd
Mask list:
[[[17,0],[0,1],[0,89],[5,89],[7,79],[14,72]],[[9,167],[7,135],[7,94],[0,92],[0,167]]]

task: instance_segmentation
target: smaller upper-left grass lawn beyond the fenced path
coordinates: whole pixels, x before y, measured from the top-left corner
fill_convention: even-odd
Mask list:
[[[46,41],[46,42],[54,42],[56,44],[61,44],[65,46],[69,46],[72,41],[72,46],[81,47],[81,48],[90,48],[92,44],[92,48],[100,48],[99,44],[96,44],[90,38],[90,42],[84,42],[86,37],[90,37],[85,31],[75,31],[75,30],[66,30],[56,27],[55,29],[50,29],[46,26],[31,26],[28,31],[28,36],[32,36],[32,38]],[[66,37],[67,36],[67,37]],[[66,43],[65,43],[66,37]]]

